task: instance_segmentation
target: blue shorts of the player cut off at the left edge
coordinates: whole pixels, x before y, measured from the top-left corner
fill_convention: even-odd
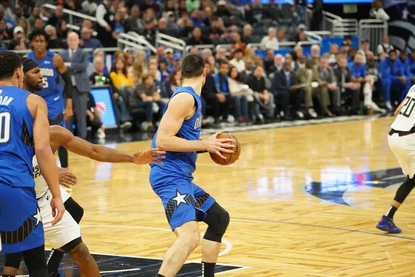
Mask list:
[[[35,188],[0,184],[0,237],[3,253],[15,253],[45,243]]]

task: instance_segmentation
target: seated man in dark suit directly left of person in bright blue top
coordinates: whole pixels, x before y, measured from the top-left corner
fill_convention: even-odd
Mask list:
[[[338,55],[338,64],[333,66],[334,75],[342,98],[351,98],[350,113],[358,114],[360,106],[360,83],[352,82],[351,69],[347,66],[347,57]],[[348,102],[348,101],[346,101]]]

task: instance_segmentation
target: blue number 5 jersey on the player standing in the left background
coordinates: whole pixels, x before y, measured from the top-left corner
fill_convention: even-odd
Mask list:
[[[48,105],[48,118],[55,119],[59,114],[64,112],[64,98],[59,85],[59,71],[53,65],[53,53],[48,51],[48,55],[42,60],[37,60],[35,53],[28,53],[28,57],[39,64],[39,69],[44,77],[44,88],[37,91],[36,94],[44,98]]]

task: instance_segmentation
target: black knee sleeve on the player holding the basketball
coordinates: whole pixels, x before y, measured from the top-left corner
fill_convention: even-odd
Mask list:
[[[208,210],[208,215],[205,218],[208,229],[203,238],[214,242],[222,242],[222,237],[228,229],[229,222],[230,215],[228,211],[215,202]]]

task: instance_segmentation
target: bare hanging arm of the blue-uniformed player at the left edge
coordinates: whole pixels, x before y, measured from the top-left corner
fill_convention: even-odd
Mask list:
[[[54,217],[56,215],[55,209],[57,209],[57,215],[52,222],[52,224],[56,224],[59,220],[62,220],[65,208],[60,194],[56,161],[50,149],[48,107],[46,106],[46,102],[35,94],[30,94],[27,101],[34,118],[33,141],[35,143],[35,154],[37,162],[39,163],[39,169],[53,196],[53,202],[50,205],[52,206],[52,214]]]

